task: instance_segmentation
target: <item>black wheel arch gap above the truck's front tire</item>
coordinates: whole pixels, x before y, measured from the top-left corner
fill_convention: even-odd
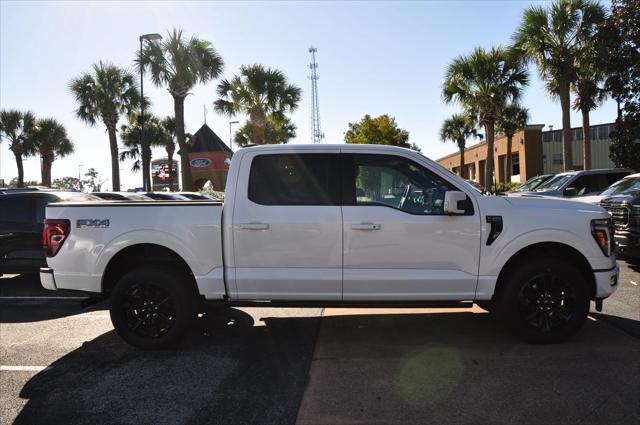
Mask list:
[[[571,264],[576,266],[578,270],[580,270],[589,285],[590,298],[593,299],[595,297],[596,281],[593,275],[593,269],[591,268],[589,261],[587,261],[580,251],[561,242],[539,242],[520,249],[507,260],[504,266],[502,266],[502,269],[498,274],[494,298],[496,298],[504,288],[506,276],[508,276],[511,270],[517,267],[521,262],[526,261],[527,258],[531,257],[553,257],[569,261]]]

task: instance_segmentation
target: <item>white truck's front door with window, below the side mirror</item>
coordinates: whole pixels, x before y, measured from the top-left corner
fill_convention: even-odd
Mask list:
[[[343,299],[472,300],[479,212],[443,212],[444,193],[461,188],[401,156],[343,161]]]

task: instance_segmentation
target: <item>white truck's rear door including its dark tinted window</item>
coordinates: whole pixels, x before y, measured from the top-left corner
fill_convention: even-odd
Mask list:
[[[228,270],[236,298],[342,299],[338,155],[338,149],[245,154],[236,185],[234,255]]]

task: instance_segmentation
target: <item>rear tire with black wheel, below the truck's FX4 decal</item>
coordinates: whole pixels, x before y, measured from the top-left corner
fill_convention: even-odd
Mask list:
[[[186,277],[163,267],[140,267],[116,284],[111,294],[111,323],[134,347],[170,347],[184,336],[195,317],[196,300]]]

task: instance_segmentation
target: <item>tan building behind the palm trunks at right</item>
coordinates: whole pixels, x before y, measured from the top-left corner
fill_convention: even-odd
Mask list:
[[[513,136],[511,155],[511,181],[524,183],[540,174],[561,173],[562,167],[562,130],[542,131],[544,124],[528,125]],[[609,134],[615,124],[591,126],[591,168],[612,168],[609,158]],[[571,129],[571,159],[574,170],[582,170],[582,127]],[[487,143],[482,142],[465,149],[464,164],[467,176],[481,185],[484,182],[484,167],[487,159]],[[494,142],[494,175],[499,183],[505,182],[507,163],[507,138],[497,135]],[[443,167],[460,174],[460,153],[456,151],[437,160]]]

